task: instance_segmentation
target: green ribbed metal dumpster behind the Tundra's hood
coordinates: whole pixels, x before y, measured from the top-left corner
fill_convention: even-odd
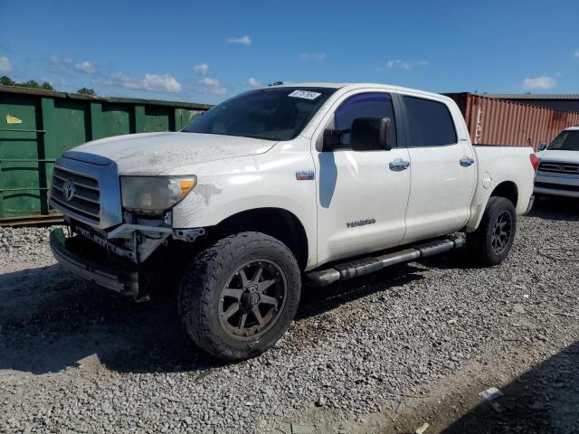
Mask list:
[[[0,225],[58,218],[46,196],[54,160],[71,147],[102,137],[177,131],[210,108],[0,86]]]

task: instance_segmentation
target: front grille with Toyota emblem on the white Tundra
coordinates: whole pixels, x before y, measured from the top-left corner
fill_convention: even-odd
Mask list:
[[[77,214],[86,222],[100,222],[99,182],[90,176],[54,167],[51,199],[62,212]]]

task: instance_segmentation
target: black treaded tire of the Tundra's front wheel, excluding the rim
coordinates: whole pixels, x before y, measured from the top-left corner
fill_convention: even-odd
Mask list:
[[[228,278],[253,259],[266,259],[279,267],[286,278],[287,296],[269,330],[240,341],[223,329],[219,303]],[[298,310],[300,291],[298,261],[288,247],[261,232],[240,232],[216,241],[195,258],[179,288],[179,316],[188,335],[204,351],[224,360],[244,360],[265,352],[286,332]]]

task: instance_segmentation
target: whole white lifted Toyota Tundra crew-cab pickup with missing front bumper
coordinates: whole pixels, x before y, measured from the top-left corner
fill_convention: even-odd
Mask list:
[[[54,167],[63,267],[147,297],[180,278],[207,352],[260,354],[287,330],[302,278],[331,284],[459,248],[505,259],[532,203],[530,148],[472,146],[456,104],[379,84],[243,93],[180,132],[110,137]]]

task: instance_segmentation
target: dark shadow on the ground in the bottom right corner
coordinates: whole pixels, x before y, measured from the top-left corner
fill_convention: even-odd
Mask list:
[[[501,391],[504,396],[496,400],[500,411],[482,401],[442,432],[577,432],[579,343],[536,365]],[[476,392],[470,396],[478,398]]]

